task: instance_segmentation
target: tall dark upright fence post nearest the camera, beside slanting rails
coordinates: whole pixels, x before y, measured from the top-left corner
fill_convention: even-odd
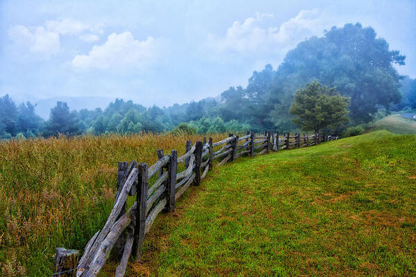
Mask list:
[[[133,243],[133,256],[140,262],[141,246],[144,240],[144,229],[146,227],[146,200],[148,192],[148,165],[139,164],[139,182],[137,184],[137,208],[135,222],[135,241]]]

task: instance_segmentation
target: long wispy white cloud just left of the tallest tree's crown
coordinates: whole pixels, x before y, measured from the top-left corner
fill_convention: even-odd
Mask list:
[[[239,53],[253,55],[276,51],[287,51],[306,37],[320,35],[327,24],[320,10],[301,10],[296,17],[280,26],[264,27],[261,21],[272,15],[257,12],[243,23],[234,21],[227,29],[225,37],[209,35],[205,51],[218,55],[221,53]]]

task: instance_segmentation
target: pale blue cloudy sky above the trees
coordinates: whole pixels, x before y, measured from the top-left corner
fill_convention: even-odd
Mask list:
[[[293,3],[291,3],[293,2]],[[416,1],[0,1],[0,96],[150,106],[245,85],[324,29],[361,22],[416,78]]]

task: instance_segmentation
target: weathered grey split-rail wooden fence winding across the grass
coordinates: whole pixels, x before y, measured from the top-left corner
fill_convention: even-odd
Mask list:
[[[144,238],[157,215],[175,211],[175,201],[191,184],[199,186],[214,161],[218,160],[216,166],[221,166],[242,156],[304,148],[333,139],[338,136],[283,134],[280,139],[278,132],[248,132],[241,137],[229,134],[216,143],[211,138],[193,145],[187,141],[187,152],[181,157],[177,157],[175,150],[166,155],[157,150],[159,160],[152,166],[136,161],[120,162],[114,207],[103,229],[89,240],[79,261],[78,251],[58,248],[53,276],[96,276],[113,248],[121,254],[115,276],[124,276],[130,256],[140,260]],[[184,170],[177,172],[178,165]],[[136,201],[126,211],[128,196],[135,196]]]

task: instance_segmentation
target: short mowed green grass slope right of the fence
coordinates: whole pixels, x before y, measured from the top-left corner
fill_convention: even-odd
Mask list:
[[[214,167],[157,218],[127,276],[416,276],[416,136]]]

